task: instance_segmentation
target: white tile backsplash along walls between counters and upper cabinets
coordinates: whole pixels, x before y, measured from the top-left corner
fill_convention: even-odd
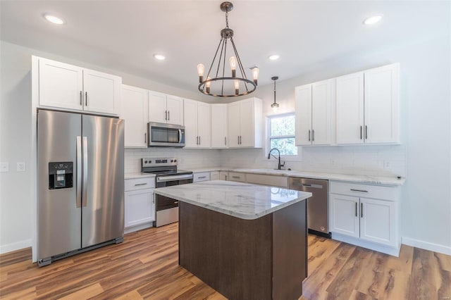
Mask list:
[[[393,146],[307,146],[299,147],[301,159],[286,161],[285,168],[311,172],[354,175],[406,175],[406,147]],[[143,157],[177,157],[178,168],[277,168],[263,149],[125,149],[125,173],[140,172]]]

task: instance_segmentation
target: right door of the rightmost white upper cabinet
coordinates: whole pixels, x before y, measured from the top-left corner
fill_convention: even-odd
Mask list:
[[[365,142],[400,142],[399,64],[368,70],[364,78]]]

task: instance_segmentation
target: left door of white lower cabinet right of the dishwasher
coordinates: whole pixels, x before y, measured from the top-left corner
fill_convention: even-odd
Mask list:
[[[359,198],[330,194],[330,231],[359,237]]]

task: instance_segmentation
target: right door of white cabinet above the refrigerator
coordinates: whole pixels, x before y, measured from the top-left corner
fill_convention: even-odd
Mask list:
[[[121,77],[83,69],[85,111],[118,115]]]

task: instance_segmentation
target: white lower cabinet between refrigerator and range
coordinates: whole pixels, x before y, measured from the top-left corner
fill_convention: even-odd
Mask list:
[[[152,227],[155,220],[154,178],[125,180],[125,233]]]

